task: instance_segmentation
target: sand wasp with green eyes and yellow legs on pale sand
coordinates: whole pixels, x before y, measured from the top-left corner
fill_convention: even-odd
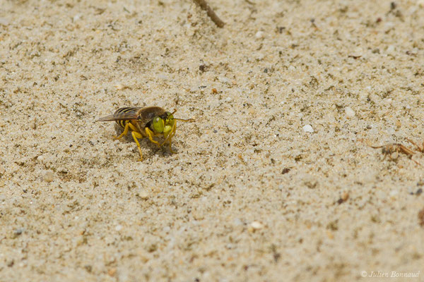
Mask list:
[[[124,128],[124,132],[121,135],[114,137],[117,140],[131,131],[131,135],[139,148],[140,160],[142,160],[143,154],[141,153],[138,139],[143,137],[147,137],[151,142],[158,145],[158,147],[164,145],[165,142],[169,142],[170,151],[174,153],[171,143],[177,129],[177,121],[194,121],[192,118],[174,118],[175,112],[170,113],[159,106],[148,106],[146,108],[125,107],[117,109],[114,114],[100,118],[97,121],[116,121],[119,126]],[[154,136],[160,135],[165,138],[165,141],[162,143],[153,139]]]

